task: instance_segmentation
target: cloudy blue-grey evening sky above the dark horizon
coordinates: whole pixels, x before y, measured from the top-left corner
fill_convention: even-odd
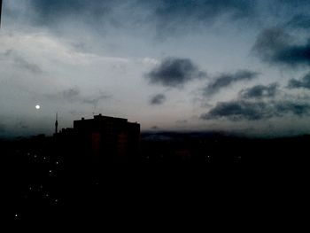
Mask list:
[[[102,113],[145,130],[310,133],[308,0],[4,0],[0,136]],[[35,105],[40,105],[36,109]]]

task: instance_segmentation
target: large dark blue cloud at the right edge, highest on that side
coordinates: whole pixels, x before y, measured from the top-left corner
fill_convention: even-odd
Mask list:
[[[269,64],[310,65],[310,39],[304,44],[293,43],[283,29],[269,28],[258,36],[253,52]]]

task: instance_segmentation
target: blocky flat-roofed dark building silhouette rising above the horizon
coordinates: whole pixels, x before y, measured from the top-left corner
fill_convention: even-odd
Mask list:
[[[95,115],[74,120],[74,128],[63,128],[58,135],[61,148],[68,153],[98,161],[127,162],[139,154],[140,124],[127,119]]]

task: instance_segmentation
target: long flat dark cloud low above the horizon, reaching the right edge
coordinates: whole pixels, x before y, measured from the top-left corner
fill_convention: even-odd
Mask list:
[[[310,105],[283,102],[250,102],[236,100],[230,102],[220,102],[209,113],[201,115],[203,120],[266,120],[273,117],[283,117],[286,115],[303,116],[310,113]]]

